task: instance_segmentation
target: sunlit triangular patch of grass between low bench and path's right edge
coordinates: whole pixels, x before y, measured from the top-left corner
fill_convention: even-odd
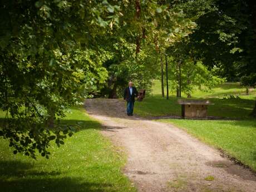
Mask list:
[[[180,127],[256,171],[256,121],[160,120]]]

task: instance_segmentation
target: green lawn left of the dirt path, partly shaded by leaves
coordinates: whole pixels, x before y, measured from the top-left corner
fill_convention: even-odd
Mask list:
[[[58,148],[51,146],[50,159],[37,160],[21,154],[0,139],[0,189],[16,191],[136,191],[121,173],[125,156],[116,152],[103,137],[99,122],[90,119],[82,107],[73,107],[63,120],[68,124],[80,122],[81,129]]]

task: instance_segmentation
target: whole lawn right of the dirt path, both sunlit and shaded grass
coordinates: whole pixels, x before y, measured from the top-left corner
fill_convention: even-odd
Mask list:
[[[223,99],[227,95],[240,99]],[[187,131],[201,141],[221,149],[256,171],[256,120],[249,117],[255,104],[255,90],[245,95],[239,83],[223,83],[211,92],[195,91],[193,99],[208,99],[215,105],[209,106],[209,116],[231,117],[237,120],[184,120],[163,119]],[[185,97],[184,97],[185,98]],[[181,107],[174,95],[169,100],[161,97],[160,81],[155,81],[152,95],[135,103],[135,113],[141,116],[180,115]]]

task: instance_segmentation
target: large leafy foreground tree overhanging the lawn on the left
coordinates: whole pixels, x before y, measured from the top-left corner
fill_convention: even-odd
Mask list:
[[[135,47],[132,66],[145,70],[141,48],[155,18],[165,21],[170,34],[184,23],[183,13],[168,1],[2,1],[0,107],[6,118],[0,136],[14,153],[35,158],[38,150],[48,157],[51,140],[60,145],[72,135],[71,126],[56,120],[111,75],[102,66],[121,58],[109,49],[113,38]],[[141,76],[128,58],[117,64],[128,66],[131,78]]]

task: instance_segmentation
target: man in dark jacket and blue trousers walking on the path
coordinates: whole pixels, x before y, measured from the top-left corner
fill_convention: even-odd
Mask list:
[[[135,87],[132,87],[132,82],[129,82],[129,87],[125,88],[124,100],[127,102],[127,115],[132,116],[134,113],[134,102],[138,92]]]

